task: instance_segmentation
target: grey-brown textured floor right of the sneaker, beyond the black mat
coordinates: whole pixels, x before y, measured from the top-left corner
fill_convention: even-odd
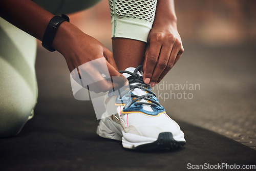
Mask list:
[[[256,149],[256,45],[184,47],[183,57],[165,81],[200,84],[200,90],[185,91],[194,95],[191,100],[160,99],[161,104],[171,116]]]

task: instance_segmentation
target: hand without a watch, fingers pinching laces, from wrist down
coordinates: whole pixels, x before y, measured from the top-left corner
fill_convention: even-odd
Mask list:
[[[183,51],[176,22],[154,23],[147,39],[144,82],[151,86],[159,83],[180,59]]]

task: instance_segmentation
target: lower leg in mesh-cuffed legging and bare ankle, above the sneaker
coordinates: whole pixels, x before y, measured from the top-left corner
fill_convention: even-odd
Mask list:
[[[157,1],[110,0],[113,55],[119,70],[142,65]],[[136,11],[136,14],[134,13]]]

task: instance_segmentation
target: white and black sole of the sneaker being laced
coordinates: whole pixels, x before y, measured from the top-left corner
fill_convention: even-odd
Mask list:
[[[106,123],[106,124],[105,124]],[[158,138],[144,137],[130,133],[124,133],[121,126],[107,119],[105,123],[101,120],[97,127],[100,137],[122,141],[124,148],[140,151],[154,151],[161,149],[178,149],[186,144],[183,137],[175,140],[170,132],[160,133]],[[115,125],[114,125],[115,124]]]

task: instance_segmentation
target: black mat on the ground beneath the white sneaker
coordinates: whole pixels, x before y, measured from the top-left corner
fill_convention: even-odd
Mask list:
[[[17,137],[0,141],[0,170],[186,170],[188,163],[256,164],[253,149],[181,121],[184,147],[145,153],[98,137],[90,102],[39,99],[35,112]]]

